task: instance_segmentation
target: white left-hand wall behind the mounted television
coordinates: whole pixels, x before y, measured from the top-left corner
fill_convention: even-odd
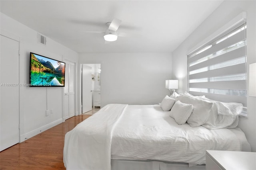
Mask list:
[[[37,32],[1,13],[1,32],[8,32],[21,38],[20,43],[20,82],[29,84],[30,52],[52,59],[78,61],[78,53],[47,38],[46,45],[37,43]],[[20,141],[32,137],[62,122],[62,88],[32,88],[20,86]],[[11,98],[12,96],[6,96]],[[46,107],[48,105],[48,108]],[[54,113],[46,116],[46,109]]]

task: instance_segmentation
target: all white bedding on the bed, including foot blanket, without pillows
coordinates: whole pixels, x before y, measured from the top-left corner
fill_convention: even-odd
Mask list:
[[[160,105],[110,104],[65,136],[67,169],[110,170],[110,159],[205,163],[206,150],[241,150],[229,129],[178,125]]]

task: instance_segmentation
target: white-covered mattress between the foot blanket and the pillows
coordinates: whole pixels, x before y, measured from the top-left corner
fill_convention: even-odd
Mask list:
[[[111,158],[205,164],[206,150],[248,151],[239,128],[178,125],[160,105],[129,105],[112,131]]]

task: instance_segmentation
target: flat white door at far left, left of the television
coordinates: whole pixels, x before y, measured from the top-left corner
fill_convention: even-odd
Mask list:
[[[0,151],[2,151],[19,143],[19,42],[0,36]]]

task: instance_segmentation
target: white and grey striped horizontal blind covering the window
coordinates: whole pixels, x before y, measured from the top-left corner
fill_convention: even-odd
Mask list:
[[[193,95],[246,106],[246,79],[245,21],[188,55],[188,89]]]

